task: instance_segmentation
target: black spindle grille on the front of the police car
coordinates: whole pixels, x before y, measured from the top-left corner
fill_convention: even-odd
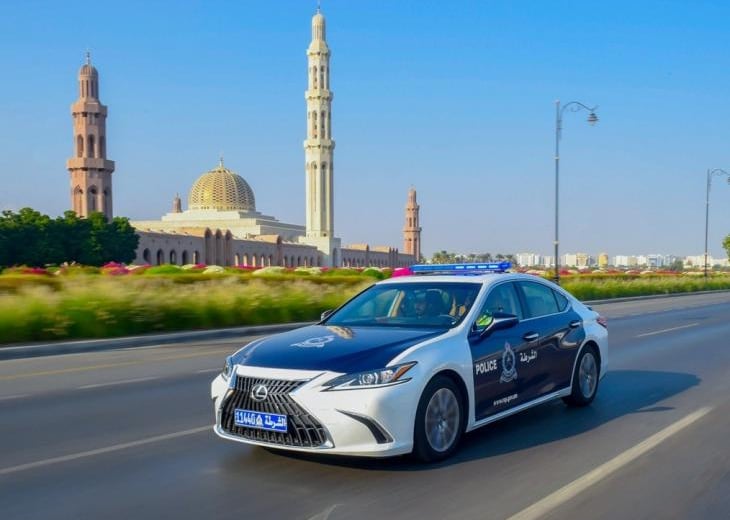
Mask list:
[[[289,395],[304,383],[306,381],[237,376],[235,388],[221,409],[221,427],[226,433],[257,442],[306,448],[322,446],[327,442],[324,427]],[[266,385],[269,390],[268,396],[261,402],[251,398],[251,389],[258,384]],[[236,426],[234,417],[236,408],[286,415],[287,432]]]

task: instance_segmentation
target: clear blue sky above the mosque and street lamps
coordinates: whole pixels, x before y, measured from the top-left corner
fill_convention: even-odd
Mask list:
[[[257,208],[304,221],[316,2],[0,3],[0,207],[67,209],[70,104],[89,48],[109,106],[115,213],[158,218],[225,155]],[[730,170],[730,3],[325,0],[335,227],[401,246],[549,253],[554,101],[566,114],[561,251],[700,254],[705,172]],[[711,194],[724,256],[730,185]]]

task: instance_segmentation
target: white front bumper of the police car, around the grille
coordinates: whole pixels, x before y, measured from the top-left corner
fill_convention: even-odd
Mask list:
[[[369,457],[388,457],[410,453],[413,449],[413,424],[420,388],[414,378],[406,383],[373,389],[324,391],[322,384],[340,374],[262,369],[237,366],[230,381],[221,376],[211,384],[211,397],[216,414],[215,433],[228,440],[257,446],[307,453],[327,453]],[[226,405],[231,408],[237,378],[265,378],[282,381],[304,381],[290,394],[324,430],[324,442],[317,446],[297,446],[244,437],[232,431],[223,417]],[[238,402],[241,402],[239,399]],[[273,410],[276,411],[276,410]],[[279,410],[277,413],[287,413]],[[290,420],[290,423],[293,421]],[[233,430],[236,430],[235,428]],[[261,437],[261,436],[258,436]],[[264,436],[266,437],[266,436]]]

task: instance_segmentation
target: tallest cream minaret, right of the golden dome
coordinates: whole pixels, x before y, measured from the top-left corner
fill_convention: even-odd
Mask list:
[[[330,50],[325,35],[325,19],[319,8],[312,17],[312,42],[307,49],[309,83],[307,139],[304,141],[306,171],[306,237],[316,245],[330,265],[338,265],[334,226],[334,186],[332,140],[332,91],[330,90]]]

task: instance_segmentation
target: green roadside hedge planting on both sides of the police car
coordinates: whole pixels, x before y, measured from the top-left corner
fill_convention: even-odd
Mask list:
[[[389,272],[63,268],[0,275],[0,344],[316,320]],[[54,272],[54,269],[50,270]],[[565,276],[582,300],[730,289],[730,276]]]

